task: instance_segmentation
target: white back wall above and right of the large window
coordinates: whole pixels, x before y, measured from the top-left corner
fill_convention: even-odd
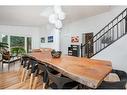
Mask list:
[[[0,34],[32,37],[32,49],[39,48],[39,28],[0,25]]]

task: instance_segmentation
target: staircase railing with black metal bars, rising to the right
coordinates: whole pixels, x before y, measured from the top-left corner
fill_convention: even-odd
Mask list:
[[[81,57],[93,57],[126,34],[127,8],[95,34],[87,43],[81,44]],[[91,47],[93,48],[92,51]],[[87,54],[85,54],[85,50],[87,50]]]

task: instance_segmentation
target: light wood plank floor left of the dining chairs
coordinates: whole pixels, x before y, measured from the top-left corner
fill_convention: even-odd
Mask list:
[[[20,76],[17,74],[19,67],[20,62],[16,62],[15,65],[11,65],[9,71],[6,64],[2,70],[0,63],[0,89],[28,89],[29,78],[26,82],[20,82]],[[36,89],[42,89],[41,80],[41,78],[38,80]]]

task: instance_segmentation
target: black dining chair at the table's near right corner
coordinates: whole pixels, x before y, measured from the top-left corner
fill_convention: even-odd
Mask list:
[[[98,89],[127,89],[125,86],[127,84],[127,73],[121,70],[113,69],[111,73],[118,75],[120,81],[103,81]]]

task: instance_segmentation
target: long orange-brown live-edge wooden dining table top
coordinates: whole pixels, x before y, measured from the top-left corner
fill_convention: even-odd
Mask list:
[[[91,88],[97,88],[112,70],[110,61],[73,56],[52,58],[47,52],[34,52],[28,56],[42,64],[45,62],[63,75]]]

